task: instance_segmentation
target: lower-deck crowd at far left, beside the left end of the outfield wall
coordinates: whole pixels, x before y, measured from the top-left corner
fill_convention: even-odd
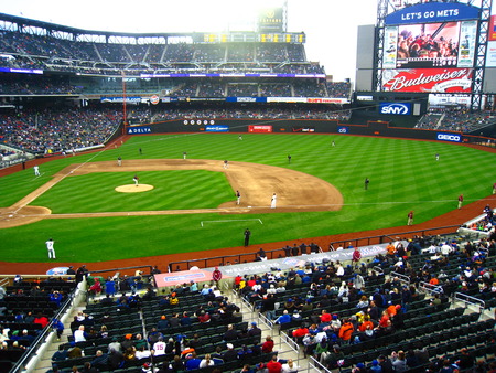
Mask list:
[[[6,145],[28,152],[69,152],[105,143],[121,119],[121,113],[114,109],[51,108],[1,113],[0,137]]]

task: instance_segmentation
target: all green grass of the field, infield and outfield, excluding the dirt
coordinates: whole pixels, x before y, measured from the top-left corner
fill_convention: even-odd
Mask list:
[[[0,230],[2,260],[46,262],[44,242],[50,237],[55,239],[57,262],[90,263],[240,246],[247,226],[256,245],[405,225],[410,210],[420,223],[454,210],[461,193],[466,203],[487,196],[496,180],[493,153],[452,143],[314,134],[244,134],[242,141],[235,134],[136,136],[118,149],[42,164],[37,179],[32,169],[1,178],[0,206],[13,204],[71,163],[119,156],[125,162],[180,159],[183,151],[190,159],[228,159],[305,172],[339,189],[345,205],[337,212],[45,220]],[[370,179],[368,191],[364,190],[365,178]],[[155,190],[126,196],[114,192],[131,179],[127,172],[66,178],[31,204],[68,213],[215,207],[234,200],[222,173],[140,172],[140,179]]]

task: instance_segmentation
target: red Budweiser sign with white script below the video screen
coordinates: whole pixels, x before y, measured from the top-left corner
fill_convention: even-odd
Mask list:
[[[385,70],[382,88],[390,92],[470,93],[472,68]]]

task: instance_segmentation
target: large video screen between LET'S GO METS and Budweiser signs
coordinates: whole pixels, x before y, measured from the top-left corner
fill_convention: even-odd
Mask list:
[[[472,67],[477,21],[390,25],[384,68]]]

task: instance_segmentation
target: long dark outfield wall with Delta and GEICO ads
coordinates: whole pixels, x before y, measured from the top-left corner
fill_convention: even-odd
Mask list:
[[[445,130],[390,127],[385,121],[367,125],[341,124],[337,119],[180,119],[144,126],[127,127],[128,135],[158,135],[168,132],[250,132],[250,134],[339,134],[405,139],[439,140],[444,142],[490,142],[494,145],[496,125],[478,137]],[[489,136],[489,137],[488,137]]]

